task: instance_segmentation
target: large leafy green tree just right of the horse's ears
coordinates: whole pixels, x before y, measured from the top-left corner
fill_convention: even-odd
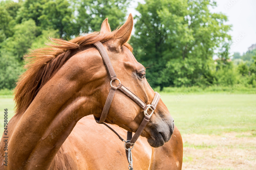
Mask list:
[[[217,55],[229,58],[230,25],[227,16],[211,13],[209,0],[151,1],[136,8],[135,36],[138,61],[155,64],[147,71],[153,86],[190,86],[213,83]],[[215,51],[222,51],[215,53]],[[222,56],[220,56],[222,55]]]

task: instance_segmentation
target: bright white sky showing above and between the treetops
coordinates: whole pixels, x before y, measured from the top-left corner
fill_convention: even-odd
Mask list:
[[[138,2],[145,3],[144,0],[132,0],[127,9],[128,14],[139,15],[135,10]],[[217,7],[211,11],[225,14],[229,20],[226,24],[233,25],[232,30],[229,31],[232,36],[230,54],[246,53],[252,44],[256,44],[256,0],[215,0],[215,2]]]

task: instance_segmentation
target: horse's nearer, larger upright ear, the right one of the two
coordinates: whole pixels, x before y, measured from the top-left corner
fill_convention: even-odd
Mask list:
[[[116,33],[114,38],[119,42],[119,45],[122,46],[124,43],[126,43],[132,33],[132,27],[133,27],[133,17],[132,14],[130,13],[128,19],[126,22],[120,27]]]

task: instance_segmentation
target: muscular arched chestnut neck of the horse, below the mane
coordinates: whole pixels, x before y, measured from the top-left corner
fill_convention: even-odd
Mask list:
[[[12,131],[8,145],[11,169],[46,169],[78,120],[89,114],[101,113],[100,102],[96,99],[99,97],[97,91],[102,88],[99,85],[101,81],[98,79],[98,87],[93,87],[95,82],[92,79],[95,77],[83,70],[96,64],[81,61],[81,56],[86,59],[85,52],[81,53],[69,59],[39,90],[19,120],[8,127]],[[102,59],[95,62],[98,65]],[[99,75],[107,74],[96,69]]]

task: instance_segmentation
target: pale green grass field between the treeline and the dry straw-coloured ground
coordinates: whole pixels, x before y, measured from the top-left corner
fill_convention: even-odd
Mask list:
[[[250,131],[256,135],[256,94],[161,93],[161,99],[182,134]],[[0,102],[2,134],[4,109],[8,109],[8,120],[14,113],[13,96],[2,95]]]

